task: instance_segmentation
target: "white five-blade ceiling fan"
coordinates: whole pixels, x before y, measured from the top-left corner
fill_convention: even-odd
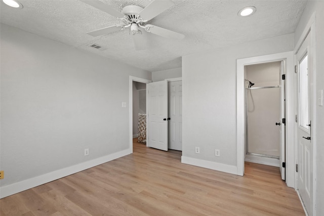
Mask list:
[[[133,36],[135,49],[143,50],[145,49],[144,40],[142,38],[143,29],[149,33],[160,35],[165,38],[178,39],[181,40],[184,38],[184,35],[175,31],[171,31],[165,28],[161,28],[155,25],[146,24],[149,20],[153,19],[160,13],[164,12],[168,8],[174,5],[171,0],[155,0],[151,2],[144,9],[136,5],[128,5],[121,10],[121,12],[116,11],[111,6],[100,2],[99,0],[80,0],[94,8],[97,8],[103,12],[106,12],[117,19],[123,21],[124,24],[117,24],[98,30],[90,31],[88,34],[93,37],[97,37],[103,34],[109,34],[117,30],[124,30],[129,28]]]

